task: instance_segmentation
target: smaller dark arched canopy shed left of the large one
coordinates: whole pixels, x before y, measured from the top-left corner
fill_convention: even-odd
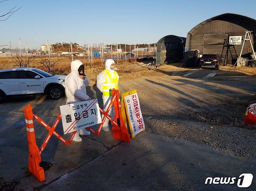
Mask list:
[[[167,64],[177,60],[182,60],[186,38],[167,35],[157,42],[156,64]]]

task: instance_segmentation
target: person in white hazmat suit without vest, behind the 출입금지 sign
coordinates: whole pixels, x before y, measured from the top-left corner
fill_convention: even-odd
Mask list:
[[[82,102],[91,100],[86,94],[86,86],[88,86],[90,80],[84,74],[84,65],[80,60],[74,60],[71,62],[71,73],[65,79],[65,93],[67,96],[67,104]],[[75,134],[73,141],[80,142],[82,138],[80,135],[91,134],[86,129],[80,129]]]

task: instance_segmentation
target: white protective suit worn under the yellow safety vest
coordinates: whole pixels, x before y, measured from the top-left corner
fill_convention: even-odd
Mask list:
[[[105,68],[110,72],[110,74],[112,75],[112,77],[114,77],[114,70],[110,69],[110,65],[114,64],[114,60],[112,59],[107,59],[105,62]],[[119,79],[119,76],[117,75],[117,78]],[[106,77],[105,75],[100,72],[100,74],[98,74],[97,76],[97,88],[102,92],[103,91],[103,84],[106,82]],[[103,99],[103,110],[107,111],[107,108],[109,107],[109,104],[112,100],[112,96],[102,96]],[[114,115],[115,115],[115,111],[114,111],[114,106],[112,106],[110,108],[109,111],[110,117],[113,119]],[[102,114],[102,118],[103,118],[103,114]],[[109,119],[105,119],[104,124],[102,126],[102,130],[103,131],[109,131]]]

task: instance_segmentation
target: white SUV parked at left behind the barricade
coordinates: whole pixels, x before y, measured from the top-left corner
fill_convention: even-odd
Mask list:
[[[57,100],[65,95],[65,78],[36,68],[0,70],[0,103],[5,96],[27,94],[44,94]]]

